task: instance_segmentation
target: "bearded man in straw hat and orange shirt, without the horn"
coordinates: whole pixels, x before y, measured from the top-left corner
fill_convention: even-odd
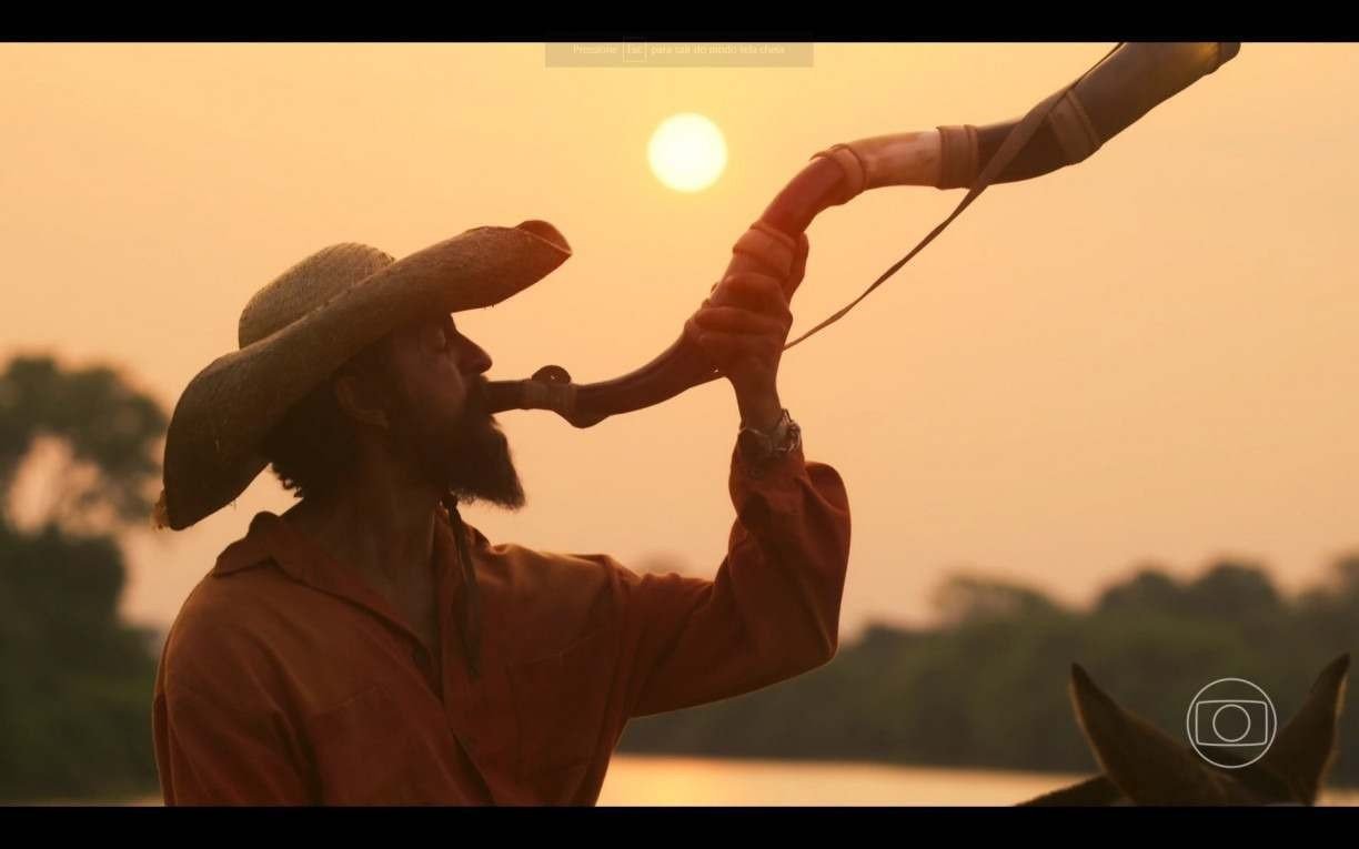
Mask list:
[[[776,390],[807,243],[765,245],[781,276],[733,274],[685,323],[741,416],[712,580],[492,543],[458,513],[525,494],[488,410],[491,357],[453,314],[564,262],[550,224],[401,261],[336,245],[260,289],[239,350],[175,406],[156,520],[189,527],[269,465],[299,501],[254,516],[170,630],[166,803],[593,804],[629,719],[830,660],[849,508]]]

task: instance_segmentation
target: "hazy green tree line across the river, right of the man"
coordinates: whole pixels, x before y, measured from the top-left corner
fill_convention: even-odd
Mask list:
[[[1295,600],[1264,568],[1222,561],[1189,581],[1143,564],[1089,611],[977,575],[950,577],[936,602],[936,628],[874,625],[790,682],[636,720],[620,747],[1084,772],[1095,763],[1067,696],[1072,662],[1174,729],[1223,676],[1258,683],[1290,716],[1317,668],[1359,648],[1359,556]],[[1332,780],[1359,784],[1359,710],[1340,723]]]

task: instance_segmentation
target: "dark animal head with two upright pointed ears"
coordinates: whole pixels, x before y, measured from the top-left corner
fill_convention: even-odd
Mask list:
[[[1254,763],[1214,767],[1142,717],[1118,706],[1078,664],[1071,702],[1104,774],[1025,806],[1310,806],[1335,757],[1349,655],[1332,660],[1307,701]]]

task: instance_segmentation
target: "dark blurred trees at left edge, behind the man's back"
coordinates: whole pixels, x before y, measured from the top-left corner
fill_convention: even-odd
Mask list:
[[[145,793],[149,634],[118,618],[113,534],[145,520],[166,417],[109,368],[20,357],[0,374],[0,797]],[[37,528],[14,522],[16,474],[49,439]]]

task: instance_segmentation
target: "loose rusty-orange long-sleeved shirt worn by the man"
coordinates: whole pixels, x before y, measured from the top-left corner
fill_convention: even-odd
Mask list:
[[[166,640],[154,704],[166,804],[594,804],[631,717],[765,687],[836,652],[840,475],[799,448],[754,477],[734,451],[728,490],[737,520],[712,580],[492,545],[465,526],[478,675],[455,622],[454,526],[436,523],[431,657],[357,572],[257,515]]]

